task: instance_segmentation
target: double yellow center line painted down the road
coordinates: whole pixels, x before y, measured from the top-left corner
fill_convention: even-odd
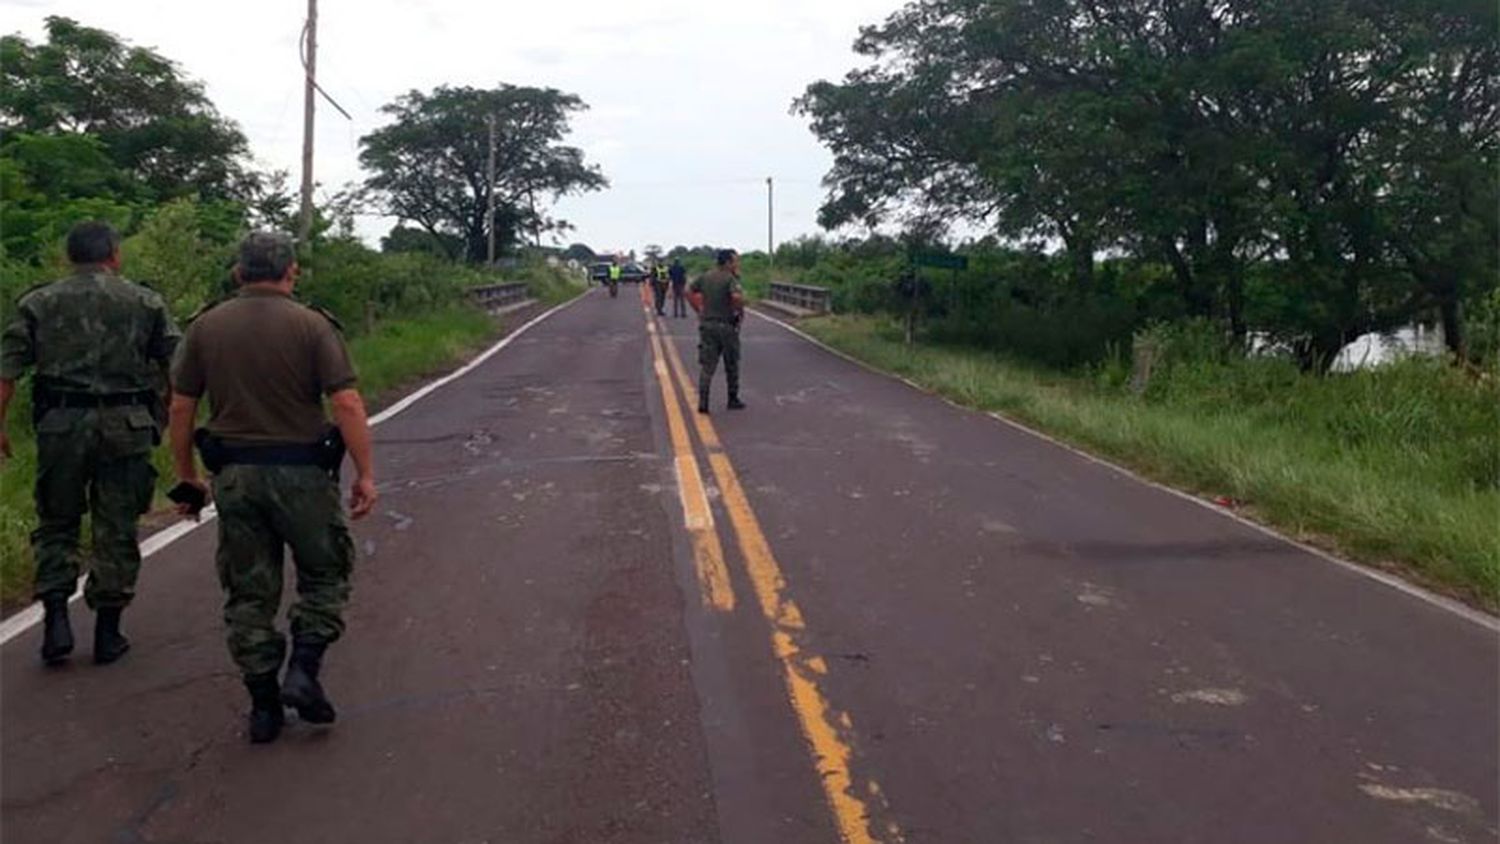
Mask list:
[[[870,805],[886,810],[885,795],[870,778],[861,778],[856,786],[850,774],[854,721],[848,712],[834,709],[824,696],[820,679],[828,673],[828,661],[802,645],[807,624],[796,601],[786,594],[786,577],[771,552],[771,543],[766,541],[760,520],[746,498],[734,463],[723,451],[712,420],[692,412],[692,397],[696,393],[693,382],[676,348],[657,330],[650,310],[646,330],[651,334],[652,366],[662,388],[662,402],[666,405],[678,492],[682,499],[684,522],[693,538],[693,562],[704,606],[732,612],[735,595],[684,415],[690,415],[694,421],[698,439],[708,454],[708,465],[712,468],[724,513],[734,526],[740,556],[744,558],[760,613],[771,625],[771,649],[782,663],[788,699],[801,724],[840,840],[848,844],[902,841],[902,832],[894,823],[880,831],[873,829]],[[674,388],[674,381],[681,388],[681,397]],[[890,813],[882,811],[882,814]]]

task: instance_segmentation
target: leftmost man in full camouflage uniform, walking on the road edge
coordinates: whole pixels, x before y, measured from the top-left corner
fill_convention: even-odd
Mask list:
[[[87,222],[68,232],[74,273],[28,291],[0,340],[0,453],[10,454],[4,418],[15,382],[34,369],[36,519],[32,552],[36,598],[46,609],[42,660],[74,651],[68,600],[78,583],[78,531],[93,528],[84,600],[94,610],[94,663],[118,660],[130,643],[120,613],[141,571],[136,520],[156,489],[152,447],[160,442],[162,372],[182,334],[166,304],[118,276],[120,235]]]

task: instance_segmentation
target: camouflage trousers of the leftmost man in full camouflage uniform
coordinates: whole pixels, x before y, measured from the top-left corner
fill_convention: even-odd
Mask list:
[[[141,573],[136,523],[152,505],[156,420],[146,408],[56,408],[36,424],[36,597],[72,595],[82,568],[84,514],[93,561],[84,600],[123,607]]]

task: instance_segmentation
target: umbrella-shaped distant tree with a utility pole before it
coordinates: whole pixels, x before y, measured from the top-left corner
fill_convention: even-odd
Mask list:
[[[364,186],[386,211],[435,238],[458,237],[470,261],[486,256],[490,193],[501,249],[522,235],[562,231],[548,217],[558,198],[608,184],[582,150],[562,144],[584,100],[554,88],[438,87],[411,91],[382,111],[390,126],[360,139]],[[489,183],[489,127],[496,124],[495,183]],[[454,255],[458,258],[459,255]]]

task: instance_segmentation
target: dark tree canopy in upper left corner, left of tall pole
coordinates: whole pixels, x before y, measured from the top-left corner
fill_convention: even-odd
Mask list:
[[[87,135],[154,201],[242,198],[244,135],[172,61],[46,18],[46,42],[0,37],[0,132]]]

